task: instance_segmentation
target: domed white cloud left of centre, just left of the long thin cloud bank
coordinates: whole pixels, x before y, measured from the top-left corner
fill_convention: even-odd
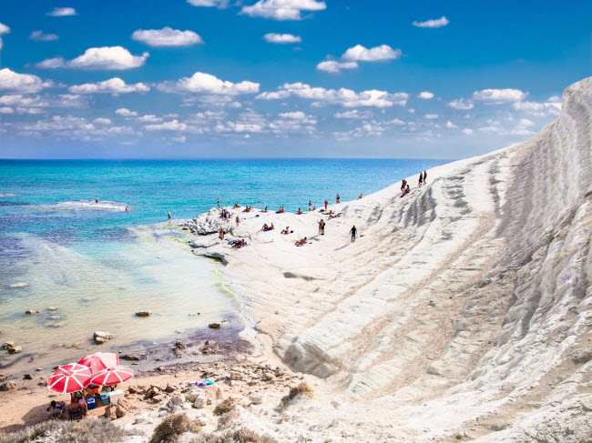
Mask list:
[[[259,83],[242,81],[232,83],[220,80],[216,76],[196,72],[193,76],[184,77],[179,81],[166,82],[158,85],[158,88],[165,92],[195,92],[225,96],[237,96],[240,94],[255,94],[259,92]]]

